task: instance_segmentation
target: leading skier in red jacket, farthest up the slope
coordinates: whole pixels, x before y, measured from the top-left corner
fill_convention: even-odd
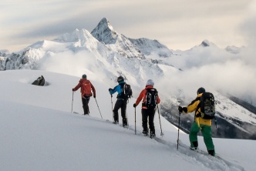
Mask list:
[[[78,85],[72,89],[73,92],[76,92],[79,88],[81,88],[82,102],[83,102],[83,114],[89,115],[89,98],[93,96],[96,98],[96,90],[93,84],[86,79],[86,74],[82,75],[82,79],[79,80]],[[93,90],[93,93],[92,93]]]

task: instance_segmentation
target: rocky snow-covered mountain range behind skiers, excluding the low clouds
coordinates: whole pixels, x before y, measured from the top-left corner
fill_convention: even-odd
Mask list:
[[[58,38],[35,42],[20,52],[9,54],[0,52],[0,71],[11,69],[43,69],[47,60],[58,54],[72,52],[88,52],[96,59],[90,69],[97,74],[103,72],[104,79],[115,80],[116,76],[123,75],[126,80],[132,82],[135,92],[141,89],[141,85],[147,78],[164,78],[167,73],[182,72],[170,62],[173,55],[189,55],[194,49],[218,49],[214,43],[204,40],[200,45],[188,51],[173,51],[157,40],[130,39],[113,29],[106,18],[103,18],[92,32],[86,29],[60,35]],[[237,54],[240,48],[227,46],[226,49],[218,49],[231,54]],[[59,61],[61,64],[61,61]],[[178,112],[177,101],[182,102],[183,96],[170,99],[162,94],[161,115],[169,122],[177,126]],[[185,95],[184,95],[185,96]],[[256,139],[256,115],[255,107],[239,98],[224,96],[215,92],[217,101],[217,129],[213,125],[214,137],[226,137],[235,139]],[[181,126],[184,132],[190,129],[190,122],[194,116],[183,116]]]

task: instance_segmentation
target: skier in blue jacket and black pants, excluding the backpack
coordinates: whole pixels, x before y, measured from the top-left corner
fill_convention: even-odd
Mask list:
[[[116,104],[113,109],[113,119],[114,123],[119,123],[118,110],[121,108],[121,116],[123,119],[123,127],[127,127],[127,119],[126,119],[126,106],[127,106],[127,98],[123,92],[123,86],[126,84],[124,82],[123,76],[117,78],[118,85],[114,87],[114,89],[109,89],[109,93],[112,96],[113,93],[117,92],[116,96]]]

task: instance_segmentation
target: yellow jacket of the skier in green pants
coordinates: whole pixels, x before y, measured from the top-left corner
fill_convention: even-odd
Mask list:
[[[187,112],[194,112],[197,109],[197,106],[200,102],[200,96],[202,96],[203,93],[200,93],[197,95],[197,98],[194,99],[190,105],[187,106]],[[194,121],[197,122],[197,125],[200,127],[200,124],[202,125],[207,125],[207,126],[211,126],[211,119],[203,119],[200,116],[196,117],[198,114],[200,114],[200,108],[198,109],[198,111],[196,111],[195,113],[195,117],[194,117]]]

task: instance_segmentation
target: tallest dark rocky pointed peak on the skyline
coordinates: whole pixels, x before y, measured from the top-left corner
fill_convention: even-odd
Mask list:
[[[117,32],[113,29],[113,26],[110,25],[107,18],[103,18],[96,28],[93,29],[91,34],[99,42],[103,42],[105,44],[112,44],[116,42]]]

